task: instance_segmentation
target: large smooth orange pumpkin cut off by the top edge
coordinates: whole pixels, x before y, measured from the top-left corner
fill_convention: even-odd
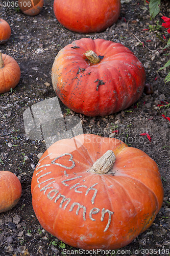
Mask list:
[[[100,32],[110,27],[119,17],[120,0],[55,0],[54,13],[67,29],[80,32]]]

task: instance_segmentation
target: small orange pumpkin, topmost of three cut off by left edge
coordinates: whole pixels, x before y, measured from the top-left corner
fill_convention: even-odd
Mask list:
[[[9,24],[0,18],[0,45],[5,44],[11,36],[11,28]]]

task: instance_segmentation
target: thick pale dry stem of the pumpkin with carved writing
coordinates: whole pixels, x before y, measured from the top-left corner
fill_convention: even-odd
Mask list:
[[[113,167],[115,160],[116,158],[113,151],[108,150],[103,156],[101,156],[93,163],[89,172],[96,174],[106,174]]]

